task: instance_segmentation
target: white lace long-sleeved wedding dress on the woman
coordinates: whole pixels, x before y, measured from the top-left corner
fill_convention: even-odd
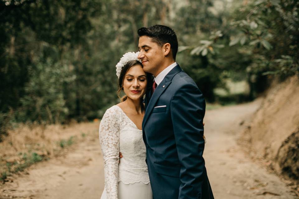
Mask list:
[[[142,130],[114,105],[101,120],[99,137],[105,164],[101,199],[152,199]]]

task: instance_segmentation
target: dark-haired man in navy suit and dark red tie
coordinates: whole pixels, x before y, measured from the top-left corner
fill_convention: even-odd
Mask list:
[[[175,62],[178,40],[164,25],[138,30],[143,69],[154,75],[142,123],[154,199],[211,199],[202,157],[205,100]]]

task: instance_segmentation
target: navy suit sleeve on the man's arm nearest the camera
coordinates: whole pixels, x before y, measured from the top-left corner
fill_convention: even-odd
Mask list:
[[[206,104],[196,85],[186,83],[171,99],[170,111],[178,158],[181,164],[179,199],[201,198],[205,175],[202,157],[203,117]]]

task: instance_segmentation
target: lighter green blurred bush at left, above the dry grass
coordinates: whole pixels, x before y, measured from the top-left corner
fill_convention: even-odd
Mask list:
[[[30,81],[24,90],[26,95],[20,99],[19,121],[59,123],[68,114],[65,107],[64,85],[72,83],[75,76],[66,64],[47,61],[29,66]]]

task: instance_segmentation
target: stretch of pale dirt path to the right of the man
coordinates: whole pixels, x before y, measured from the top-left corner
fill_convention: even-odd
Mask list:
[[[252,162],[236,144],[246,122],[259,107],[249,104],[211,110],[205,117],[207,144],[204,158],[215,198],[293,199],[297,198],[282,180],[265,167]],[[240,126],[240,123],[244,123]]]

